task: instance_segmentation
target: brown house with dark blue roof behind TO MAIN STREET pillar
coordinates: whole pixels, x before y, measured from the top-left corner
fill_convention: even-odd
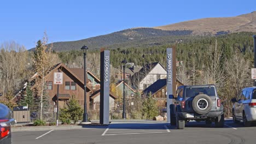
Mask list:
[[[176,89],[179,86],[183,86],[183,83],[176,79]],[[165,107],[166,103],[166,79],[159,79],[152,85],[144,89],[143,95],[149,96],[151,93],[152,97],[158,101],[158,106]]]

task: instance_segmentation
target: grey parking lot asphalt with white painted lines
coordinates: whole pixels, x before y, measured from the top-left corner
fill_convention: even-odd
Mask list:
[[[245,128],[230,119],[224,128],[189,122],[178,130],[168,123],[112,122],[107,127],[13,132],[13,143],[255,143],[256,127]]]

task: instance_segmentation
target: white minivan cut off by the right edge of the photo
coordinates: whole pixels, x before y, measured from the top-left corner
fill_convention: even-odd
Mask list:
[[[242,89],[232,102],[234,102],[232,113],[235,123],[242,121],[245,127],[249,127],[252,122],[256,122],[256,87]]]

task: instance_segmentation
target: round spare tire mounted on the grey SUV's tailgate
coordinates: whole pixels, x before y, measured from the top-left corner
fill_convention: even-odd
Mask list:
[[[206,94],[196,95],[192,101],[192,107],[196,113],[200,115],[206,114],[212,108],[212,100]]]

